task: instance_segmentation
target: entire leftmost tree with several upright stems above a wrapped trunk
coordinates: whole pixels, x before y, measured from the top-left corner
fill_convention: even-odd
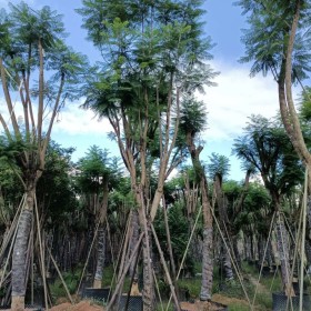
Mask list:
[[[7,123],[1,113],[0,123],[9,141],[22,141],[24,146],[16,157],[27,199],[14,241],[11,304],[12,310],[23,310],[27,244],[36,185],[44,170],[57,113],[66,99],[77,94],[74,90],[79,89],[87,62],[64,44],[61,17],[49,7],[36,11],[24,2],[11,4],[9,13],[1,11],[0,27],[3,33],[0,38],[1,86],[8,108],[6,116],[10,116],[10,123]],[[14,94],[19,96],[20,107],[12,101]],[[17,113],[21,113],[23,122],[18,121]]]

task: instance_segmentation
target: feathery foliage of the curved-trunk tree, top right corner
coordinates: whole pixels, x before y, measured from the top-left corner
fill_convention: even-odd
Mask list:
[[[283,74],[284,51],[288,47],[295,1],[239,0],[235,4],[247,14],[249,29],[243,30],[245,57],[242,62],[253,62],[251,76],[269,71],[278,81]],[[302,1],[301,17],[292,56],[294,81],[308,78],[310,67],[310,2]]]

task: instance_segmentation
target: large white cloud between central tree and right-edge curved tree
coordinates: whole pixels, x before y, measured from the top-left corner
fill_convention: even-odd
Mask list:
[[[279,111],[278,84],[272,77],[249,77],[249,69],[214,63],[217,87],[199,98],[207,103],[208,140],[232,140],[241,134],[251,114],[271,118]]]

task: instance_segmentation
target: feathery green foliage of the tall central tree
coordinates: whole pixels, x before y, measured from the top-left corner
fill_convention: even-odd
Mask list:
[[[142,162],[151,168],[154,158],[163,156],[163,146],[177,130],[171,122],[179,109],[175,84],[182,93],[193,93],[215,74],[205,63],[212,44],[203,36],[202,1],[84,0],[78,12],[83,27],[103,56],[88,79],[83,107],[109,119],[140,172]],[[172,160],[180,160],[181,152],[174,152]],[[147,159],[141,160],[141,153]]]

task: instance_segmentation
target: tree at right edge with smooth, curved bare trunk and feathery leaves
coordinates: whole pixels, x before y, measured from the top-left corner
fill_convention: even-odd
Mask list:
[[[282,122],[295,152],[308,168],[308,220],[311,228],[311,154],[294,106],[292,84],[300,83],[310,73],[310,1],[237,1],[248,13],[250,29],[242,41],[247,56],[253,61],[251,74],[271,72],[278,83]],[[308,235],[308,234],[307,234]],[[309,242],[308,242],[309,243]]]

